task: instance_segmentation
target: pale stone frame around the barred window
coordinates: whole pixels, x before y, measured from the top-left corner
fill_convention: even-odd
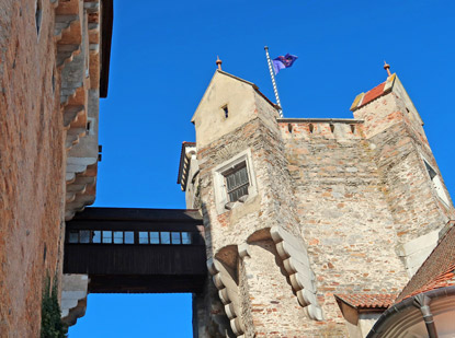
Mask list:
[[[238,201],[229,202],[229,197],[227,194],[226,185],[226,173],[229,172],[232,167],[238,166],[241,163],[244,163],[247,166],[247,173],[249,178],[248,195],[246,198],[241,198]],[[247,149],[231,159],[224,161],[221,164],[217,165],[212,171],[212,176],[214,180],[214,190],[215,190],[215,203],[218,214],[224,213],[232,208],[237,208],[239,205],[242,205],[258,195],[258,185],[255,182],[255,173],[253,170],[253,162],[251,150]]]

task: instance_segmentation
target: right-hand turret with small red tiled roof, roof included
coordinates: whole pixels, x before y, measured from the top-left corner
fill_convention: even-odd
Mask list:
[[[386,65],[387,67],[387,65]],[[423,121],[396,74],[354,100],[377,165],[411,277],[436,246],[454,209],[423,130]]]

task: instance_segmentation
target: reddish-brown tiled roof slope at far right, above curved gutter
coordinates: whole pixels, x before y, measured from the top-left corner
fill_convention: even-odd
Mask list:
[[[419,293],[455,285],[455,221],[397,298],[397,303]]]

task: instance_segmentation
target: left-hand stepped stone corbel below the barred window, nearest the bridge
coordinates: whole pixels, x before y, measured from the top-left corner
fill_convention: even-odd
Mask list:
[[[230,320],[230,327],[237,337],[242,337],[244,327],[241,318],[239,288],[228,269],[216,258],[207,260],[207,268],[213,276],[218,295],[225,306],[226,315]]]

